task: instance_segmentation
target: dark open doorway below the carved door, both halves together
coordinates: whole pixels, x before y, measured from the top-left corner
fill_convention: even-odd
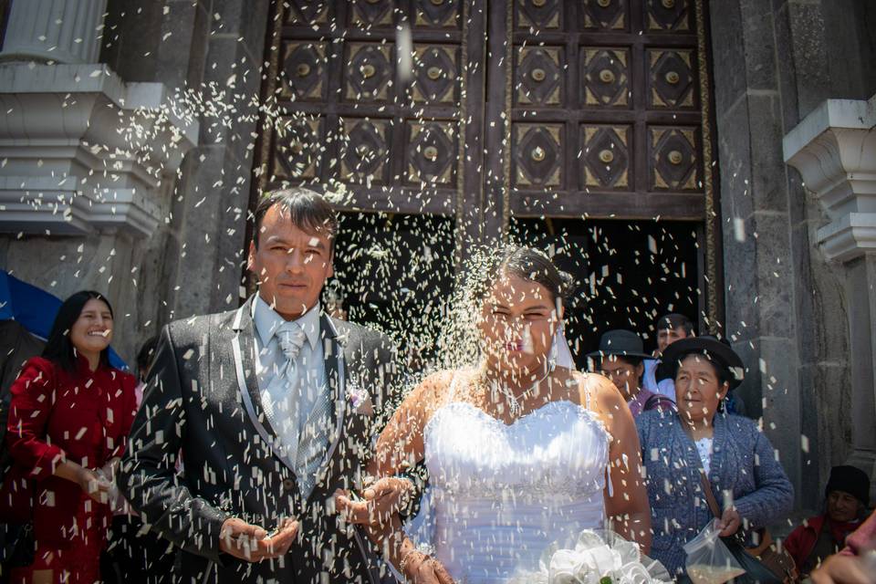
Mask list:
[[[697,224],[513,218],[512,239],[553,255],[575,276],[567,337],[579,365],[611,328],[638,332],[654,349],[653,321],[680,312],[697,321]],[[433,357],[454,286],[454,221],[414,214],[341,214],[336,278],[348,318],[379,328],[404,353]]]

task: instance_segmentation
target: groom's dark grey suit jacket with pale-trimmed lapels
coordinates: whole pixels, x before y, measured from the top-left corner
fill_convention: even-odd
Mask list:
[[[304,501],[261,407],[252,302],[162,330],[122,461],[121,490],[145,522],[181,548],[177,581],[183,584],[375,584],[381,577],[366,537],[340,524],[330,501],[336,489],[360,488],[372,435],[397,402],[391,342],[368,328],[320,318],[336,407],[328,452]],[[181,474],[174,469],[178,454]],[[283,558],[251,564],[219,551],[229,516],[267,529],[295,516],[301,531]]]

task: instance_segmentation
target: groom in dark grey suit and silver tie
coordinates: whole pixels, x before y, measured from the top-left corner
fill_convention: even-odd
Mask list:
[[[381,479],[364,502],[339,497],[359,519],[340,519],[335,495],[364,486],[371,436],[396,401],[395,353],[320,310],[337,231],[319,194],[266,193],[248,258],[258,293],[162,331],[119,485],[182,549],[177,581],[381,579],[351,524],[391,513],[406,481]]]

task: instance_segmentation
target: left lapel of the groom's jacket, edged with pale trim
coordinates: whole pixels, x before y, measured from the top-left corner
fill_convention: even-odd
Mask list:
[[[268,422],[265,410],[262,407],[262,396],[258,391],[258,381],[255,379],[255,325],[253,323],[253,302],[255,296],[250,297],[244,305],[237,309],[235,320],[232,324],[234,334],[231,339],[232,349],[235,354],[235,375],[237,387],[240,391],[240,399],[244,403],[244,409],[253,423],[259,437],[268,444],[276,458],[286,464],[290,471],[295,473],[294,461],[284,454],[276,432]]]

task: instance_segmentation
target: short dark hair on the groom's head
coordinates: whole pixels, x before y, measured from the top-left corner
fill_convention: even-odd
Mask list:
[[[262,233],[262,221],[268,210],[274,205],[282,205],[289,214],[292,224],[298,228],[319,235],[328,235],[329,253],[334,253],[335,236],[338,235],[338,214],[331,203],[321,194],[301,186],[290,189],[277,189],[262,195],[255,206],[255,229],[253,229],[253,244],[258,249],[258,236]]]

